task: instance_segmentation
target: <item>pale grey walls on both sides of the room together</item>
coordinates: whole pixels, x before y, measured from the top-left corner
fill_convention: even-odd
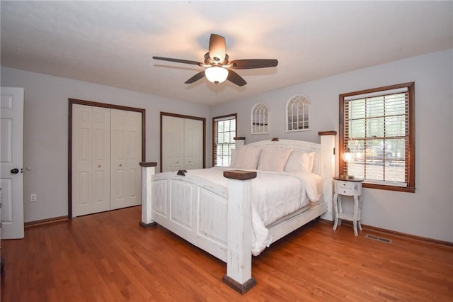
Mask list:
[[[147,110],[147,161],[159,161],[159,112],[207,118],[207,167],[211,162],[211,121],[238,113],[246,142],[273,137],[319,142],[318,131],[338,131],[338,95],[415,82],[415,194],[364,190],[362,222],[379,228],[453,242],[453,50],[378,65],[298,84],[212,108],[109,86],[1,67],[1,86],[25,88],[25,221],[67,215],[68,99],[84,99]],[[311,130],[285,133],[285,105],[294,94],[311,99]],[[250,135],[250,111],[270,106],[269,135]],[[38,201],[30,203],[30,194]]]

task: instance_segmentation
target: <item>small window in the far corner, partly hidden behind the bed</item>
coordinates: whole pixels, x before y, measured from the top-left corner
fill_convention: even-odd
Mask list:
[[[229,167],[234,149],[237,114],[212,118],[212,165]]]

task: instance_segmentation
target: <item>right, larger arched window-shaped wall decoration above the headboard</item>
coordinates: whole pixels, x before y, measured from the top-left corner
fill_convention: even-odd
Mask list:
[[[289,99],[286,106],[286,130],[309,130],[310,100],[306,96],[296,95]]]

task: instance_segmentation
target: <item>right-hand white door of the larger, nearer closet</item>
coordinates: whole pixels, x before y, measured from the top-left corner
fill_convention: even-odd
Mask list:
[[[110,208],[142,204],[142,113],[111,109]]]

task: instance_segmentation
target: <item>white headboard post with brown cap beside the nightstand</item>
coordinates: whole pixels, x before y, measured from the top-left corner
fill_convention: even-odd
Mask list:
[[[323,178],[323,196],[327,203],[327,212],[321,218],[333,221],[333,176],[335,174],[335,135],[336,131],[320,131],[321,136],[321,177]]]

